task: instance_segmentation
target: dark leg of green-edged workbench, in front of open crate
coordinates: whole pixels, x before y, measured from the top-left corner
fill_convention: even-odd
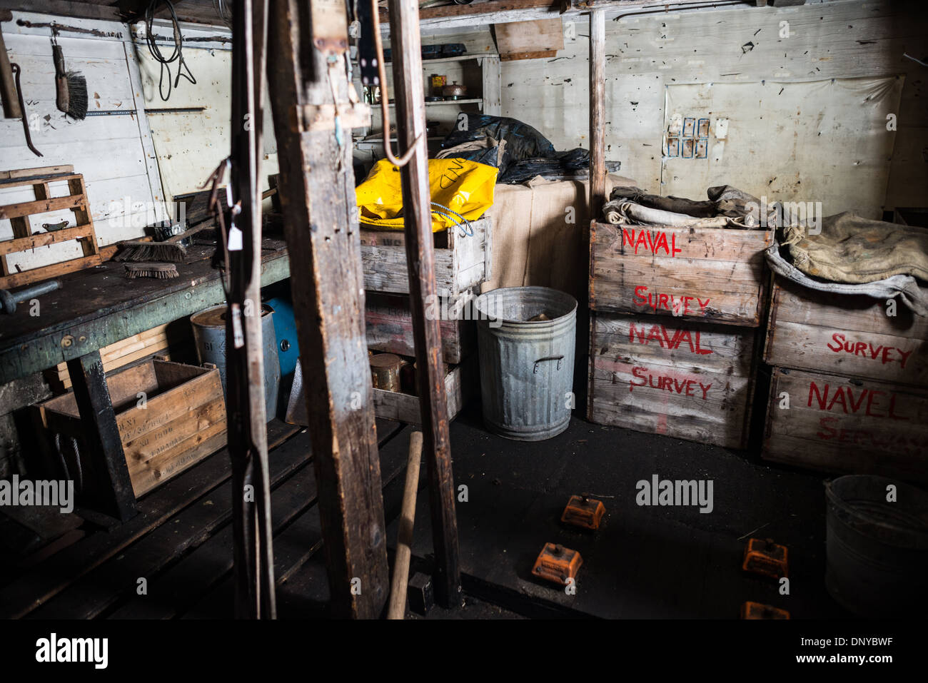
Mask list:
[[[91,481],[84,479],[88,507],[125,522],[135,516],[135,493],[100,352],[68,361],[68,373],[84,425],[87,470],[93,477]]]

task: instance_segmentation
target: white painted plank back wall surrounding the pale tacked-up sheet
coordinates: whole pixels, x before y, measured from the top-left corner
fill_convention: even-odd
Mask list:
[[[886,208],[923,205],[928,187],[925,68],[903,54],[923,55],[926,13],[922,3],[883,0],[660,12],[619,20],[607,15],[606,158],[621,161],[621,173],[641,187],[667,194],[661,185],[665,86],[902,76],[888,187],[880,203]],[[502,65],[503,115],[534,125],[559,149],[588,148],[589,31],[586,19],[575,21],[576,39],[565,40],[557,58]],[[782,21],[788,22],[788,37],[780,37]],[[751,106],[745,103],[745,114]],[[784,123],[787,128],[817,125],[809,110]],[[792,133],[784,128],[781,134]],[[828,156],[824,143],[809,144],[810,154],[818,148]],[[883,151],[872,148],[868,153],[876,156],[861,161],[882,163]],[[856,182],[858,170],[850,169],[848,178],[829,191],[834,206],[847,198],[846,188]],[[743,189],[762,194],[766,187],[756,180],[756,187]],[[789,194],[789,186],[780,189],[787,193],[782,200],[801,199]]]

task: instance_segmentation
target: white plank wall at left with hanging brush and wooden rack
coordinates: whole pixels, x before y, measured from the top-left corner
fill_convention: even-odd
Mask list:
[[[14,12],[14,19],[47,22],[43,15]],[[86,19],[68,19],[65,25],[100,29],[127,35],[122,24]],[[20,27],[15,20],[4,25],[6,48],[11,61],[22,68],[21,84],[26,110],[32,122],[32,142],[42,157],[26,147],[19,119],[0,119],[0,169],[12,170],[71,164],[84,174],[90,211],[99,245],[143,234],[153,205],[161,201],[160,180],[148,174],[146,143],[136,115],[66,118],[55,100],[55,68],[48,29]],[[135,99],[122,40],[116,37],[58,38],[66,67],[81,71],[87,81],[89,110],[134,110]],[[150,141],[148,141],[150,144]],[[154,187],[154,189],[153,189]],[[53,196],[66,194],[63,184],[51,185]],[[124,215],[130,197],[130,212]],[[31,188],[0,190],[0,203],[34,199]],[[43,223],[73,220],[71,212],[47,213],[32,219],[32,231]],[[0,221],[0,239],[12,238],[9,221]],[[76,242],[51,245],[35,251],[11,254],[11,266],[23,269],[55,263],[81,255]]]

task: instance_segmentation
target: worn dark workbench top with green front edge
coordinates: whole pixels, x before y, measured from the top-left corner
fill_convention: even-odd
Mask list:
[[[0,314],[0,384],[222,303],[212,253],[212,246],[189,248],[185,263],[177,264],[180,277],[169,280],[126,279],[122,263],[113,261],[58,277],[61,288],[38,297],[38,316],[29,303]],[[262,286],[287,277],[285,242],[265,238]]]

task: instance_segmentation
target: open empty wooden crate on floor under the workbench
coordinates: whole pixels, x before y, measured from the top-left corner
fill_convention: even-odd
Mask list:
[[[107,384],[135,496],[226,445],[226,402],[215,367],[149,360],[113,372]],[[146,394],[144,403],[139,392]],[[73,393],[46,401],[39,411],[50,432],[80,443]]]

